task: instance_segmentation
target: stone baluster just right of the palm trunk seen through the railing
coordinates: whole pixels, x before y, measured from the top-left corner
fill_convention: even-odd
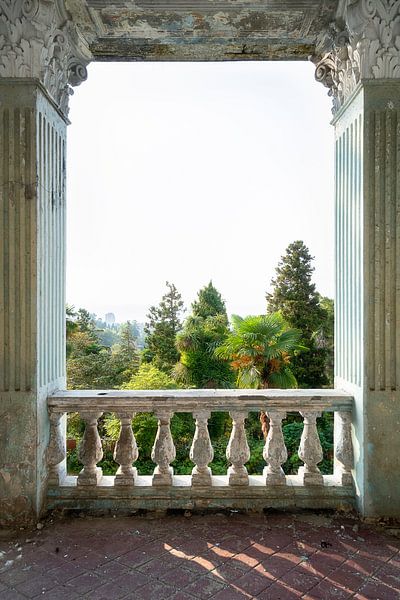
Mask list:
[[[263,456],[267,462],[264,468],[265,483],[286,485],[286,476],[282,466],[287,459],[287,450],[282,433],[282,419],[286,413],[268,411],[269,431],[264,446]]]

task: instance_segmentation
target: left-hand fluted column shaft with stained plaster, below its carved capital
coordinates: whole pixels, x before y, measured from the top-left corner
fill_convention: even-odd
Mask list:
[[[40,511],[47,395],[65,386],[65,129],[33,80],[0,79],[0,522]]]

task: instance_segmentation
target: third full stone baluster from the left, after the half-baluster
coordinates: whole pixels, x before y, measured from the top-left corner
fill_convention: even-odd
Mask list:
[[[170,429],[172,412],[159,410],[155,416],[158,418],[158,431],[151,451],[151,460],[157,466],[153,473],[153,485],[172,485],[174,470],[169,465],[176,456]]]

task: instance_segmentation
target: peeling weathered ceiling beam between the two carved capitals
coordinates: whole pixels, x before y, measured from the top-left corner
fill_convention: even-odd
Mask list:
[[[304,60],[339,0],[66,0],[96,60]]]

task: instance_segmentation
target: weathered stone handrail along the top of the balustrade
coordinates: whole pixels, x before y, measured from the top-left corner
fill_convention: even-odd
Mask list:
[[[102,412],[154,412],[160,408],[174,412],[193,412],[199,408],[214,412],[351,411],[353,397],[337,389],[62,390],[48,397],[53,412],[75,412],[86,403],[91,410]]]

